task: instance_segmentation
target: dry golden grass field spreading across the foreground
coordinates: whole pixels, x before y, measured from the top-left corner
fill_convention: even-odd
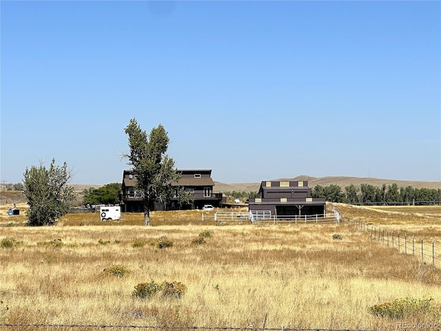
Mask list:
[[[25,205],[17,207],[21,214],[13,217],[0,208],[0,240],[10,243],[0,247],[3,324],[441,328],[441,270],[347,223],[220,226],[204,223],[195,210],[152,212],[150,227],[142,225],[142,214],[110,222],[97,214],[68,214],[53,227],[30,228],[23,226]],[[422,235],[439,231],[440,207],[334,207],[345,217]],[[163,236],[171,247],[160,248]],[[201,237],[203,243],[196,240]],[[114,265],[126,273],[109,272]],[[174,281],[185,285],[182,297],[132,295],[140,283]],[[400,317],[371,314],[373,305],[404,298],[413,299],[406,301],[413,310]],[[416,304],[421,302],[430,307]]]

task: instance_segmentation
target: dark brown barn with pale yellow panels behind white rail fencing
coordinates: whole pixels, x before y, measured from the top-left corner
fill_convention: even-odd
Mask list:
[[[250,212],[267,212],[271,217],[323,215],[325,198],[311,197],[307,181],[263,181],[258,196],[249,199]]]

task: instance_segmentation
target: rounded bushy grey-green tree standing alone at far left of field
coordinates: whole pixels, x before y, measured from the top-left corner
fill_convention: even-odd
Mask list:
[[[72,172],[66,163],[59,167],[52,159],[48,169],[41,163],[39,167],[32,165],[23,177],[23,192],[29,205],[28,225],[54,225],[69,211],[75,194],[68,185]]]

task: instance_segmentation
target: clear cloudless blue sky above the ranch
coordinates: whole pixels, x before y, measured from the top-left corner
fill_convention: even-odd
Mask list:
[[[0,181],[120,182],[132,118],[224,183],[441,181],[440,1],[0,6]]]

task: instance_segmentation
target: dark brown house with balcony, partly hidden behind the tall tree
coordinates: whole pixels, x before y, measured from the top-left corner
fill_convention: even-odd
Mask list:
[[[223,194],[214,193],[214,181],[211,178],[212,170],[177,170],[181,174],[179,181],[172,183],[176,188],[175,196],[165,206],[155,203],[150,206],[150,210],[175,210],[179,209],[177,192],[179,188],[194,195],[193,205],[183,206],[183,208],[203,208],[203,205],[213,205],[220,207],[223,203]],[[123,212],[142,212],[143,200],[136,192],[137,175],[132,170],[124,170],[121,195],[121,210]],[[182,206],[181,206],[182,207]]]

